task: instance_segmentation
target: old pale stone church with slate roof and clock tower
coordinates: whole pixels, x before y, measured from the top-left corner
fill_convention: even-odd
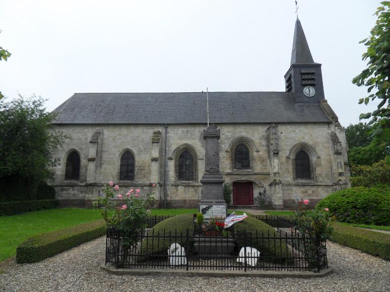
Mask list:
[[[299,19],[284,81],[284,92],[208,93],[231,205],[288,209],[349,186],[344,128]],[[123,194],[131,187],[146,194],[156,183],[159,206],[196,208],[206,100],[206,92],[75,93],[54,110],[55,128],[71,137],[54,154],[56,197],[64,206],[90,206],[110,180]]]

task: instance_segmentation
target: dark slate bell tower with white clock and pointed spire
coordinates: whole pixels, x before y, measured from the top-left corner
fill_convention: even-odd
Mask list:
[[[295,22],[291,63],[284,76],[286,92],[296,103],[319,103],[324,99],[321,64],[315,63],[306,41],[301,21]]]

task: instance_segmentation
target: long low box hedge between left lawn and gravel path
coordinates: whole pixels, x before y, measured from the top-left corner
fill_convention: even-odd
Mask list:
[[[35,263],[106,234],[103,219],[32,236],[16,248],[17,263]]]

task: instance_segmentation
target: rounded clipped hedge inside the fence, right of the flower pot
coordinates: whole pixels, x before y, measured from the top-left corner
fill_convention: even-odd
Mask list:
[[[228,229],[229,230],[229,229]],[[265,237],[268,237],[268,232],[270,233],[270,237],[279,238],[279,233],[276,232],[276,230],[269,226],[268,224],[264,223],[261,220],[258,220],[254,217],[249,216],[245,220],[238,222],[234,225],[234,233],[236,237],[236,241],[239,245],[239,247],[251,246],[256,248],[258,251],[260,251],[260,254],[265,257],[272,257],[277,258],[275,261],[285,261],[285,259],[288,257],[288,250],[286,248],[285,244],[282,244],[281,248],[280,245],[274,245],[274,240],[270,239],[259,239],[257,242],[255,239],[250,240],[249,237],[244,240],[243,234],[245,231],[246,235],[249,235],[252,233],[252,237],[256,236],[256,230],[257,235],[259,237],[262,237],[262,233]]]

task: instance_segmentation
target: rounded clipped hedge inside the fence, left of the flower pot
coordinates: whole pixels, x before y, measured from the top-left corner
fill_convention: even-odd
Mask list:
[[[194,226],[193,226],[193,214],[183,214],[183,215],[176,215],[172,216],[164,221],[161,221],[160,223],[157,223],[152,230],[149,231],[149,235],[152,235],[152,232],[154,231],[154,235],[157,235],[159,233],[160,236],[165,235],[169,236],[169,232],[171,232],[172,236],[175,236],[175,230],[177,230],[176,235],[180,236],[180,232],[182,232],[183,240],[178,239],[177,243],[179,243],[181,246],[185,246],[186,244],[186,235],[187,235],[187,229],[188,229],[188,236],[192,240],[193,232],[194,232]],[[158,244],[157,241],[154,240],[153,242],[146,238],[143,239],[142,242],[142,252],[145,253],[158,253],[158,252],[167,252],[167,249],[171,246],[171,243],[166,239],[165,242],[162,238],[160,238]]]

